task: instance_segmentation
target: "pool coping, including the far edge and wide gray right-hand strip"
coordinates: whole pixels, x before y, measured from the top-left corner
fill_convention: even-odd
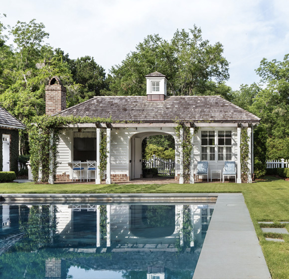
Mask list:
[[[193,279],[271,279],[242,193],[0,194],[0,204],[72,200],[184,203],[200,198],[202,202],[217,200]]]

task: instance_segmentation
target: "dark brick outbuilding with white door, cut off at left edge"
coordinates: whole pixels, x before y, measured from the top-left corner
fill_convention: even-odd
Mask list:
[[[25,126],[0,107],[0,171],[18,172],[19,129]]]

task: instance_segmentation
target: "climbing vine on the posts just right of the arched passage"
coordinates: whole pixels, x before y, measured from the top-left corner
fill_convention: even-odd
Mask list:
[[[183,139],[180,140],[180,145],[183,149],[183,173],[180,175],[183,177],[184,183],[190,182],[190,165],[191,165],[191,151],[193,148],[192,135],[190,133],[190,127],[184,125],[183,122],[175,120],[177,126],[174,128],[177,137],[181,137],[181,129],[183,129]],[[197,133],[197,128],[194,129],[194,134]]]

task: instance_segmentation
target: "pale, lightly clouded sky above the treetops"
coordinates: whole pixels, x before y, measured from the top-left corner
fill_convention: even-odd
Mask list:
[[[147,35],[170,40],[194,24],[203,39],[223,45],[233,90],[259,81],[263,58],[289,53],[288,0],[0,0],[0,13],[5,25],[43,22],[46,42],[72,59],[94,57],[106,73]]]

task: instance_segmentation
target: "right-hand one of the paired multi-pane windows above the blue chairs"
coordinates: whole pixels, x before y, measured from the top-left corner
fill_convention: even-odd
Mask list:
[[[232,160],[232,131],[218,131],[218,161]]]

